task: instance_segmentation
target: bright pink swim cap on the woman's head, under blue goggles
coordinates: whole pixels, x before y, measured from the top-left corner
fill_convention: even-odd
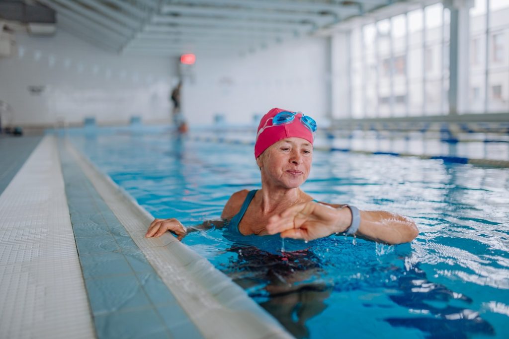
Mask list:
[[[297,115],[295,115],[295,119],[288,124],[277,126],[272,125],[272,118],[277,113],[285,111],[293,112],[287,109],[273,108],[260,120],[257,133],[260,133],[262,128],[264,128],[264,130],[258,135],[256,143],[254,143],[254,158],[260,157],[260,155],[271,145],[286,138],[302,138],[313,144],[313,133],[299,121],[302,117],[302,113],[297,113]]]

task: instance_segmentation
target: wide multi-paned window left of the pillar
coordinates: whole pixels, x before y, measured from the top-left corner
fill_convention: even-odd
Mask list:
[[[446,114],[448,30],[441,3],[354,27],[352,116]]]

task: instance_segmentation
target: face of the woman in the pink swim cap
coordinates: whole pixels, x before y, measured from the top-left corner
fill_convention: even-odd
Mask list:
[[[287,189],[306,181],[313,161],[313,145],[301,138],[280,140],[267,148],[257,159],[262,180],[269,180]]]

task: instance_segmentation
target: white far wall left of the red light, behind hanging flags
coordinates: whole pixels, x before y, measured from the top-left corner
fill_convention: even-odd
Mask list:
[[[58,30],[53,37],[16,33],[18,55],[0,59],[0,100],[16,125],[169,121],[177,62],[169,57],[109,53]],[[33,95],[29,86],[44,86]],[[4,121],[6,122],[6,121]],[[8,122],[8,121],[7,121]]]

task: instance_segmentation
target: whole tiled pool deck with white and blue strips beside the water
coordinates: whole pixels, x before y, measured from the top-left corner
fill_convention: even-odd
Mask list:
[[[40,140],[0,147],[0,337],[291,337],[172,235],[145,238],[151,215],[70,143]]]

